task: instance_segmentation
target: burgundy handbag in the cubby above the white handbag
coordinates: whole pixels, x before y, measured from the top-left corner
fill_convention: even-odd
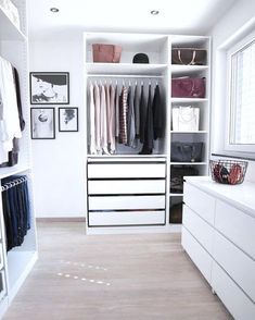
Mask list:
[[[178,77],[171,79],[171,97],[204,98],[205,77]]]

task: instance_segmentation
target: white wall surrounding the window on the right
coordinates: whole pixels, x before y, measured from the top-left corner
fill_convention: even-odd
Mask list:
[[[246,25],[251,28],[255,21],[255,1],[239,0],[237,3],[218,21],[213,28],[213,93],[212,93],[212,151],[222,152],[225,139],[225,108],[226,78],[222,76],[225,59],[225,48],[233,35],[242,37],[240,33]],[[255,182],[255,161],[250,161],[246,179]]]

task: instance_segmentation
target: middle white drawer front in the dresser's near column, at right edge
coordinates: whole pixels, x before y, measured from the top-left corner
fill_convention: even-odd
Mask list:
[[[255,301],[255,261],[218,232],[215,233],[214,258]]]

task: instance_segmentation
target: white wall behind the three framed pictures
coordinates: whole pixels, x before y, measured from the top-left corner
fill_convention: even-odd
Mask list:
[[[69,106],[79,109],[79,132],[60,133],[55,108],[55,139],[33,140],[37,217],[85,217],[85,139],[82,39],[29,44],[30,71],[69,72]],[[37,106],[31,106],[37,107]]]

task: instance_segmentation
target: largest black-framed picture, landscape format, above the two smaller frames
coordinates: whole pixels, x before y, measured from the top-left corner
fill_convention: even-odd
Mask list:
[[[31,104],[68,104],[68,72],[30,72]]]

